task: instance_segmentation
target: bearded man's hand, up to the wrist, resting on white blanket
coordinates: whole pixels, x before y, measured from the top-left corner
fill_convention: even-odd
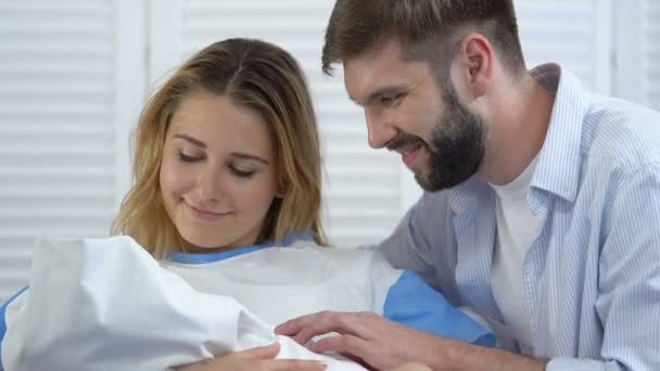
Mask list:
[[[389,321],[373,312],[321,311],[299,317],[275,329],[306,344],[314,336],[337,332],[309,345],[316,353],[337,351],[371,368],[386,370],[407,362],[426,363],[427,351],[439,351],[436,336]]]

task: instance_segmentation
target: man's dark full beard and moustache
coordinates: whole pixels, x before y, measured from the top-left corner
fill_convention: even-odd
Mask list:
[[[445,112],[435,120],[431,143],[409,133],[401,133],[388,149],[420,144],[429,153],[428,168],[415,169],[415,180],[429,192],[460,184],[471,178],[485,155],[486,125],[460,103],[454,87],[444,87]]]

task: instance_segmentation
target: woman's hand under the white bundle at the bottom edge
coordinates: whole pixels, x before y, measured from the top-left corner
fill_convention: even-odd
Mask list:
[[[177,367],[177,371],[322,371],[323,363],[306,360],[275,359],[279,344],[232,353],[223,358]]]

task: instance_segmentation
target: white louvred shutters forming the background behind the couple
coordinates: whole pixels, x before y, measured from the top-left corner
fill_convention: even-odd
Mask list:
[[[106,236],[130,184],[129,136],[150,92],[227,37],[289,50],[321,126],[325,222],[342,247],[385,238],[420,190],[367,145],[341,68],[320,71],[332,0],[0,0],[0,302],[39,235]],[[518,0],[528,67],[559,62],[597,93],[660,106],[660,1]]]

